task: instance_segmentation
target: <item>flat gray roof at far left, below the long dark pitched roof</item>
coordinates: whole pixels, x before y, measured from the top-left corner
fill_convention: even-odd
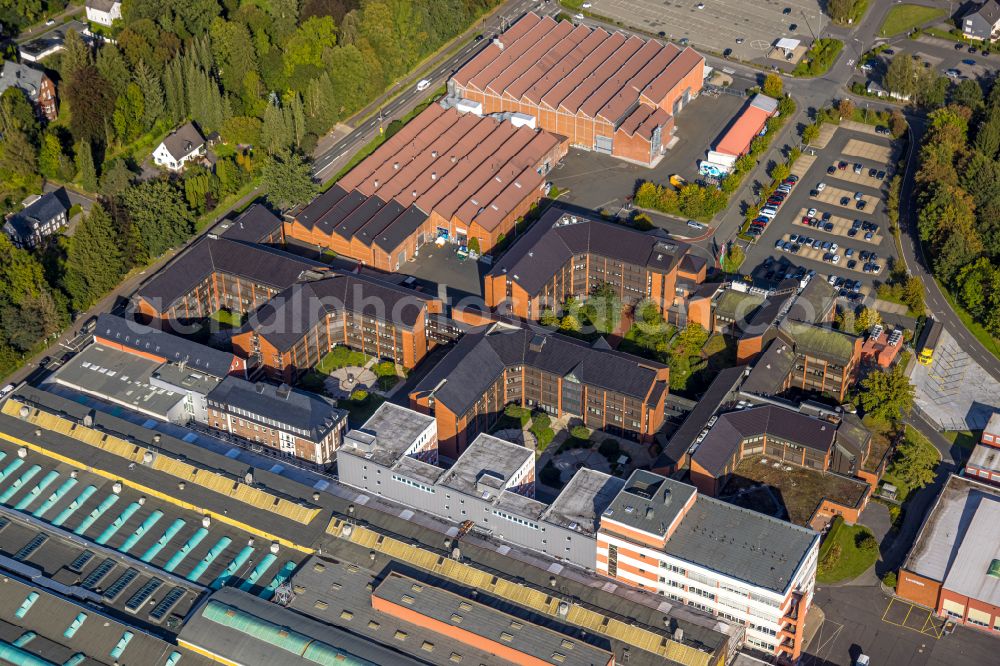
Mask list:
[[[95,343],[56,370],[50,380],[168,420],[167,415],[185,396],[149,383],[161,365]]]

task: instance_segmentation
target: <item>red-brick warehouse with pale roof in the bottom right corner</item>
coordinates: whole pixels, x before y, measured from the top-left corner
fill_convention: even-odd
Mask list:
[[[1000,633],[1000,489],[952,475],[899,569],[896,594]]]

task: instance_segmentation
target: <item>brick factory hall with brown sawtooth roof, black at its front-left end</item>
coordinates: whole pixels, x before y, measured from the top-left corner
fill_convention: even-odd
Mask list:
[[[424,243],[486,253],[544,196],[565,154],[562,137],[431,104],[295,215],[285,235],[385,271]]]

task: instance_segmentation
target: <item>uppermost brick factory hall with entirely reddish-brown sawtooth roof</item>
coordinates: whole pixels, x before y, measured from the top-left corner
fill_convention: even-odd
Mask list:
[[[691,48],[529,12],[459,69],[448,93],[483,113],[532,117],[573,146],[654,166],[704,76],[705,59]]]

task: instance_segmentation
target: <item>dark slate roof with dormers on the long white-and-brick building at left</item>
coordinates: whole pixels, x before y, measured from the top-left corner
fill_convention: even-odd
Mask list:
[[[290,425],[308,433],[305,437],[313,442],[322,440],[347,418],[347,412],[338,409],[336,401],[316,393],[233,376],[226,377],[208,394],[208,402],[226,411],[243,410],[241,415],[251,421],[271,419]]]

